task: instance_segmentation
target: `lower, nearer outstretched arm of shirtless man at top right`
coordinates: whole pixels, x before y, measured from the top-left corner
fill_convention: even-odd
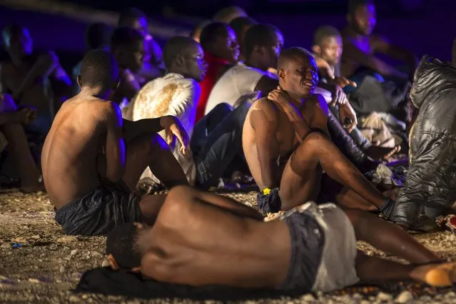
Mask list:
[[[343,56],[347,57],[351,61],[358,62],[360,65],[373,69],[373,71],[376,71],[384,76],[393,76],[404,79],[408,78],[407,74],[397,71],[397,69],[385,63],[385,61],[382,61],[375,56],[365,54],[365,52],[361,51],[358,46],[355,46],[355,44],[350,41],[344,41],[343,54]]]

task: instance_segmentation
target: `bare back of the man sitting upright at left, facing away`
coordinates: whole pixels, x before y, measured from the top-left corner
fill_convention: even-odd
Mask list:
[[[57,113],[41,156],[46,191],[56,208],[100,185],[97,158],[106,143],[109,106],[98,98],[75,96]]]

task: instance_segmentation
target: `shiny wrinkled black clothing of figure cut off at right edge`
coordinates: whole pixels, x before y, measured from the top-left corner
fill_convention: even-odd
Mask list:
[[[392,221],[413,226],[424,206],[438,216],[456,201],[456,69],[424,56],[410,99],[419,109],[410,131],[410,166]]]

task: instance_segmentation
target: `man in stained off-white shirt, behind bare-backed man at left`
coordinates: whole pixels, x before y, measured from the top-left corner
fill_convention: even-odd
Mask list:
[[[171,38],[163,50],[167,74],[143,86],[131,103],[123,108],[123,118],[138,121],[171,115],[179,118],[191,137],[195,126],[196,106],[201,88],[198,84],[206,73],[203,49],[190,37]],[[162,131],[161,136],[166,134]],[[193,186],[196,178],[195,163],[188,151],[181,152],[181,143],[171,143],[171,150]],[[146,170],[148,171],[148,170]],[[147,172],[146,176],[151,177]]]

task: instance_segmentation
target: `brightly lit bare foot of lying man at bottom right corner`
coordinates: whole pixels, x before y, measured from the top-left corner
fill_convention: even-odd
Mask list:
[[[410,272],[410,278],[435,287],[456,283],[456,262],[419,265]]]

